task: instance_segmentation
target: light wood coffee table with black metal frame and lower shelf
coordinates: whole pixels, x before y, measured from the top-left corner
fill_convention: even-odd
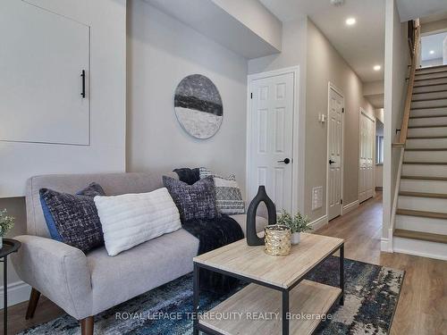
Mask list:
[[[194,257],[193,334],[310,334],[344,293],[344,240],[301,233],[291,254],[272,256],[264,246],[249,247],[245,239]],[[340,287],[304,276],[340,250]],[[244,289],[208,312],[199,310],[199,269],[249,281]],[[304,315],[304,316],[303,316]],[[306,316],[307,315],[307,316]]]

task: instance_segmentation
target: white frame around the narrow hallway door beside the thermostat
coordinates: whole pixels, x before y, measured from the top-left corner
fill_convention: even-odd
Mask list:
[[[331,104],[331,89],[337,93],[338,95],[342,96],[343,98],[343,107],[345,107],[345,98],[342,93],[342,90],[337,88],[331,81],[328,81],[327,83],[327,112],[326,112],[326,155],[325,155],[325,164],[326,164],[326,218],[329,222],[329,126],[328,126],[328,120],[329,120],[329,112],[330,112],[330,104]],[[342,208],[340,209],[340,215],[343,214],[343,184],[344,184],[344,113],[342,113],[342,187],[340,188],[340,198],[342,199]]]

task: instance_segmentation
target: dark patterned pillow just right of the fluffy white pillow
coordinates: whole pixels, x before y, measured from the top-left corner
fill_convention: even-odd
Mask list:
[[[215,206],[215,182],[212,177],[188,185],[181,180],[163,176],[163,183],[179,209],[181,222],[212,220],[220,216]]]

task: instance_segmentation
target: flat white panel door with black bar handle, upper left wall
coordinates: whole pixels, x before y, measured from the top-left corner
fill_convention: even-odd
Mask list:
[[[89,145],[89,26],[2,0],[0,37],[0,140]]]

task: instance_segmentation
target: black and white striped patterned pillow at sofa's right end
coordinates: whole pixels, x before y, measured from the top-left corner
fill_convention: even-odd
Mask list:
[[[245,204],[236,176],[231,174],[224,178],[207,168],[201,167],[200,179],[208,177],[213,177],[215,182],[215,205],[218,211],[226,215],[244,214]]]

